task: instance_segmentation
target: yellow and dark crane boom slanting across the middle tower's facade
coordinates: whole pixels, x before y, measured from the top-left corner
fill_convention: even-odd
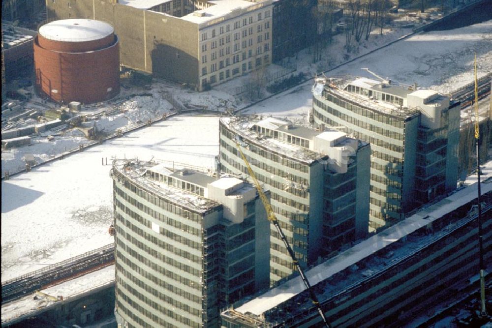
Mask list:
[[[316,294],[314,294],[314,291],[311,288],[311,284],[309,284],[309,281],[307,280],[307,277],[304,274],[304,270],[299,265],[299,261],[297,260],[296,254],[292,250],[292,247],[290,247],[289,241],[287,240],[287,238],[283,234],[283,231],[280,228],[280,225],[278,224],[277,216],[275,215],[275,212],[274,212],[274,210],[272,208],[272,205],[268,201],[267,196],[263,192],[263,188],[261,187],[260,183],[256,179],[256,176],[255,176],[253,170],[251,169],[251,166],[249,165],[249,162],[246,159],[246,155],[244,154],[243,150],[241,149],[241,145],[239,144],[238,141],[236,141],[236,147],[238,148],[239,153],[241,154],[241,157],[243,158],[243,161],[246,164],[246,168],[247,168],[247,171],[249,173],[249,176],[253,180],[254,185],[256,187],[256,190],[258,191],[258,195],[260,195],[260,199],[261,199],[263,205],[265,206],[265,209],[267,211],[267,218],[268,218],[268,220],[269,221],[272,221],[272,223],[274,224],[275,228],[277,229],[277,232],[280,235],[280,238],[282,239],[285,247],[287,248],[287,251],[289,252],[290,257],[292,258],[292,262],[294,263],[297,271],[301,275],[301,279],[303,280],[304,285],[306,286],[306,289],[309,292],[309,296],[311,297],[311,300],[312,300],[313,304],[316,306],[316,309],[318,310],[319,316],[323,320],[323,323],[325,324],[326,327],[331,328],[330,324],[326,320],[325,314],[323,313],[323,310],[321,309],[321,306],[319,305],[318,298],[316,297]]]

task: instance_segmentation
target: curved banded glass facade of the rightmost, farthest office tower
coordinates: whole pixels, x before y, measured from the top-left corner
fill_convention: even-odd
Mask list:
[[[370,143],[370,228],[393,224],[404,212],[444,194],[448,111],[441,113],[441,127],[430,129],[420,124],[418,109],[402,108],[406,98],[353,85],[346,90],[325,87],[314,95],[313,119],[317,125],[343,126]],[[378,111],[370,99],[395,109]]]

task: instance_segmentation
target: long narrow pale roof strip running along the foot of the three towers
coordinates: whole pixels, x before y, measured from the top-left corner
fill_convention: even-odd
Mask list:
[[[489,161],[487,166],[492,166],[492,161]],[[492,191],[492,182],[482,183],[482,194]],[[427,208],[420,210],[414,215],[404,219],[403,221],[391,226],[381,233],[366,239],[352,248],[338,254],[334,258],[307,270],[306,276],[311,286],[328,279],[335,273],[348,268],[369,255],[383,249],[384,247],[404,238],[405,236],[415,232],[416,230],[425,227],[430,222],[439,217],[469,203],[477,197],[477,183],[465,187],[453,195],[433,204]],[[261,315],[266,311],[280,305],[286,300],[293,298],[306,289],[300,276],[292,278],[287,282],[279,285],[276,288],[254,298],[235,311],[246,314]]]

